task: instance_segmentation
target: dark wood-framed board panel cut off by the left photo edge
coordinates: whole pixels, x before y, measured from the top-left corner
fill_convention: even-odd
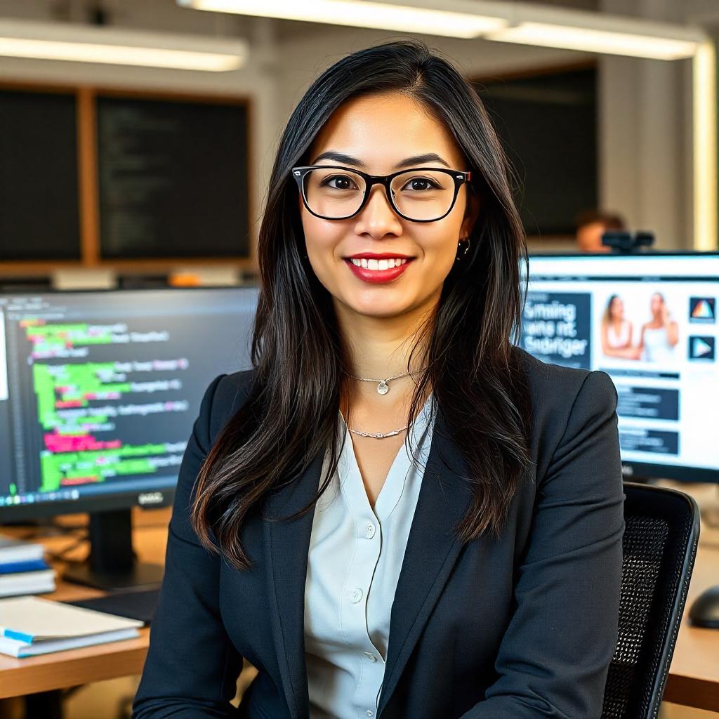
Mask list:
[[[80,257],[75,93],[0,90],[0,261]]]

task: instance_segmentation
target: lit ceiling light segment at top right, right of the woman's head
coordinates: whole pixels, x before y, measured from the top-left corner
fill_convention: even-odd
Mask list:
[[[608,55],[630,55],[655,60],[681,60],[691,58],[698,42],[677,40],[671,37],[637,35],[630,32],[597,30],[588,27],[570,27],[543,22],[521,22],[486,36],[487,40],[518,42],[521,45],[561,47],[565,50],[585,50]]]

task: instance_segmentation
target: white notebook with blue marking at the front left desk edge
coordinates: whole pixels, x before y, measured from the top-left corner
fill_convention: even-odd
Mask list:
[[[0,600],[0,652],[33,656],[139,636],[142,622],[40,597]]]

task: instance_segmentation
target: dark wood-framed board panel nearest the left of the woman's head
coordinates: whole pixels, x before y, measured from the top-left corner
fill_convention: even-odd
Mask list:
[[[106,259],[247,257],[247,107],[97,98]]]

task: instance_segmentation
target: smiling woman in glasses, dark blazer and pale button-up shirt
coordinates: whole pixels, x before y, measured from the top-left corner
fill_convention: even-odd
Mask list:
[[[525,240],[470,83],[413,41],[326,70],[258,252],[255,369],[206,390],[134,718],[599,717],[616,394],[510,341]]]

